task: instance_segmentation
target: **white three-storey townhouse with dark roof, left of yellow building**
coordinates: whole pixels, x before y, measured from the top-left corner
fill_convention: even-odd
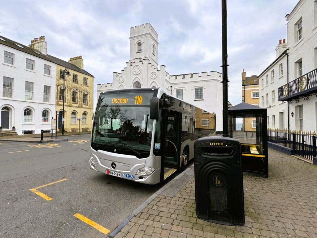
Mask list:
[[[43,45],[45,47],[45,44]],[[19,135],[50,129],[55,118],[56,64],[23,44],[0,36],[0,121]]]

